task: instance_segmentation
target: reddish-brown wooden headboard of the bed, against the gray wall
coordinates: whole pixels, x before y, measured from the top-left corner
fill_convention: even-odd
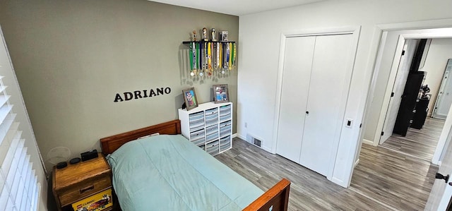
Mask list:
[[[114,150],[117,150],[124,143],[128,143],[131,140],[136,140],[146,135],[154,133],[176,135],[181,134],[181,121],[179,119],[168,121],[165,123],[159,123],[155,126],[148,126],[137,130],[129,131],[126,133],[120,133],[109,137],[100,139],[100,147],[104,155],[112,154]]]

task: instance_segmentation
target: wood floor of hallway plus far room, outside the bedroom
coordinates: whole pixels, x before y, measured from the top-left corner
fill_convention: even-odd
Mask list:
[[[422,129],[391,135],[383,145],[363,145],[350,188],[396,210],[423,210],[438,167],[431,164],[444,120],[427,118]],[[376,185],[378,183],[378,185]]]

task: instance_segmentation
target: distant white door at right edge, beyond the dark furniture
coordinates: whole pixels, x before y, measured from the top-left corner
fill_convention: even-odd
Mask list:
[[[443,80],[439,88],[438,97],[436,97],[435,108],[432,116],[438,119],[446,119],[447,113],[452,104],[452,81],[448,75],[452,71],[452,59],[448,59],[446,71],[444,71]]]

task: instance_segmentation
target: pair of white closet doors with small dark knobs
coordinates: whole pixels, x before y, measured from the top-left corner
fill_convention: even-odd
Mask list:
[[[327,176],[352,66],[352,34],[287,37],[276,153]]]

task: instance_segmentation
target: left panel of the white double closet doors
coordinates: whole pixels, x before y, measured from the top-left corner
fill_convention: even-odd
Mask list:
[[[288,37],[276,153],[299,162],[315,37]]]

